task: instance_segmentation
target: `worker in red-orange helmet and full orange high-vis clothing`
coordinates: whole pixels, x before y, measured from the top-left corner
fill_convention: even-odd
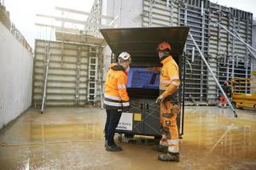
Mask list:
[[[175,105],[174,97],[180,80],[177,63],[172,59],[171,45],[161,42],[157,48],[160,62],[163,64],[160,70],[160,96],[156,102],[160,102],[160,126],[162,139],[160,144],[154,146],[154,150],[165,152],[158,157],[160,161],[179,161],[177,114],[178,105]]]

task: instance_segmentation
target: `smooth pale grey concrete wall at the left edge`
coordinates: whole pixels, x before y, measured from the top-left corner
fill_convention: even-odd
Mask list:
[[[0,128],[32,102],[32,55],[0,22]]]

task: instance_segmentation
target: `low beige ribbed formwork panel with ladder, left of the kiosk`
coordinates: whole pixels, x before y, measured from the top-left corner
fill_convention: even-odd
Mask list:
[[[45,71],[49,55],[46,85],[46,106],[79,106],[89,104],[88,78],[90,57],[102,62],[102,47],[72,43],[36,40],[33,71],[32,105],[40,107],[44,93]],[[92,49],[92,50],[91,50]],[[95,49],[97,49],[95,51]],[[93,68],[94,67],[94,68]],[[102,75],[102,65],[91,65]],[[96,77],[101,80],[102,77]],[[96,83],[96,102],[99,102],[99,84]],[[91,103],[90,103],[91,104]]]

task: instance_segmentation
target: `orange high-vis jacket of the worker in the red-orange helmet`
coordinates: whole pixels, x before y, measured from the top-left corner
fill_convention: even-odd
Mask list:
[[[166,98],[174,94],[180,85],[178,66],[171,55],[161,59],[160,62],[163,64],[160,71],[160,94]]]

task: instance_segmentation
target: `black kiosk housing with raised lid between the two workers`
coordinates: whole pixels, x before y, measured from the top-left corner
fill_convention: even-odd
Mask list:
[[[179,67],[181,80],[176,100],[181,109],[181,114],[177,116],[177,127],[179,134],[183,135],[184,107],[182,102],[183,79],[181,74],[184,70],[182,69],[184,59],[182,54],[189,27],[113,28],[101,29],[100,31],[114,54],[112,62],[117,62],[116,56],[123,51],[131,54],[131,71],[133,70],[132,73],[137,78],[137,80],[132,80],[129,77],[132,73],[129,73],[130,85],[128,83],[127,92],[131,99],[132,129],[117,129],[116,133],[160,137],[160,104],[155,103],[155,99],[159,96],[159,89],[148,86],[148,82],[155,85],[155,81],[158,81],[155,79],[159,79],[159,76],[156,76],[154,72],[149,73],[147,69],[143,70],[143,68],[161,66],[156,48],[160,42],[170,42],[172,46],[171,54]],[[138,75],[139,73],[142,75]],[[151,80],[144,80],[141,85],[138,84],[139,77],[143,77],[143,75],[150,77],[150,74],[152,75]],[[133,86],[132,83],[137,85]]]

